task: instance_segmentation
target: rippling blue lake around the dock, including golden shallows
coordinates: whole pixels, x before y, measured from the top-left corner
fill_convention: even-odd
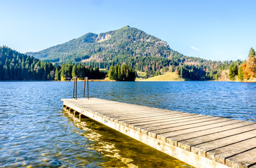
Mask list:
[[[0,82],[0,167],[190,167],[93,120],[60,99],[72,82]],[[90,97],[256,122],[256,83],[90,82]],[[83,82],[78,82],[82,97]]]

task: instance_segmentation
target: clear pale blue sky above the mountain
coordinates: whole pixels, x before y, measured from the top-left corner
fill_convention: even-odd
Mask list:
[[[256,49],[256,1],[0,0],[0,45],[39,51],[126,25],[184,55],[246,59]]]

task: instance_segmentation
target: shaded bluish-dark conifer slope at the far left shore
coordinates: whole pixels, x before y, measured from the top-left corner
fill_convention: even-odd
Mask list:
[[[53,80],[52,63],[0,47],[0,80]]]

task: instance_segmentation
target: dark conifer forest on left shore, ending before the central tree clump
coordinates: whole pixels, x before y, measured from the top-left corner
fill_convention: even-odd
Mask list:
[[[70,80],[74,76],[102,79],[106,74],[99,67],[93,69],[83,64],[54,66],[6,46],[0,47],[0,80]]]

